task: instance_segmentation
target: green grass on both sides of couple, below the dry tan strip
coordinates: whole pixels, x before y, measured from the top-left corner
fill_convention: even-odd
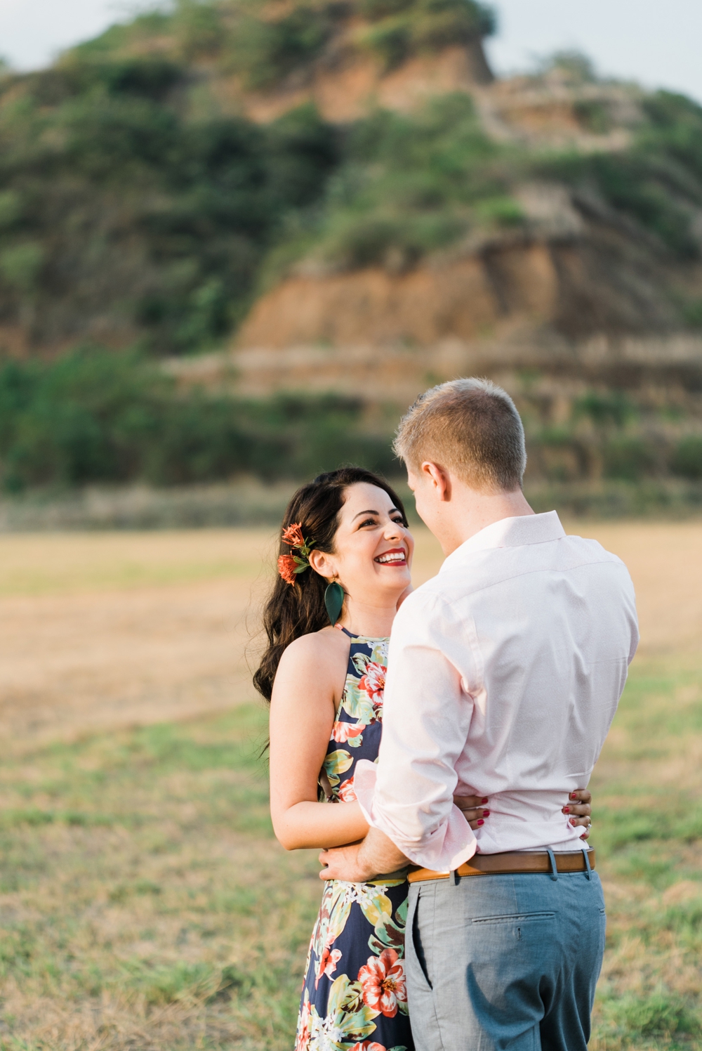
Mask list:
[[[596,1051],[702,1047],[700,672],[636,662],[593,779]],[[249,705],[3,757],[0,1049],[290,1048],[321,888],[272,837],[265,734]]]

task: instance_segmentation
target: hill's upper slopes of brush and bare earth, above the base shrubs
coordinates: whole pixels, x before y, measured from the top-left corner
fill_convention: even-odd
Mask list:
[[[694,330],[700,107],[567,56],[493,82],[491,28],[471,0],[181,0],[5,76],[0,346]]]

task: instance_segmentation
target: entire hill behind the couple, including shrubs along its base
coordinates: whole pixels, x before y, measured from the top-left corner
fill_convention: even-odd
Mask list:
[[[492,28],[179,0],[4,75],[2,488],[392,472],[397,411],[478,373],[531,483],[699,503],[702,108],[573,55],[494,80]]]

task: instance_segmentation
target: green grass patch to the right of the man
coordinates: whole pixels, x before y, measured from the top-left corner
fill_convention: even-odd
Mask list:
[[[702,667],[640,660],[593,777],[607,951],[593,1048],[702,1046]]]

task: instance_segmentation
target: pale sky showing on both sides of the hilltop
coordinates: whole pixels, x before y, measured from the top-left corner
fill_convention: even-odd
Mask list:
[[[0,56],[17,69],[47,65],[146,0],[0,0]],[[488,44],[493,68],[529,68],[554,50],[577,49],[599,73],[702,102],[700,0],[497,0],[500,28]]]

